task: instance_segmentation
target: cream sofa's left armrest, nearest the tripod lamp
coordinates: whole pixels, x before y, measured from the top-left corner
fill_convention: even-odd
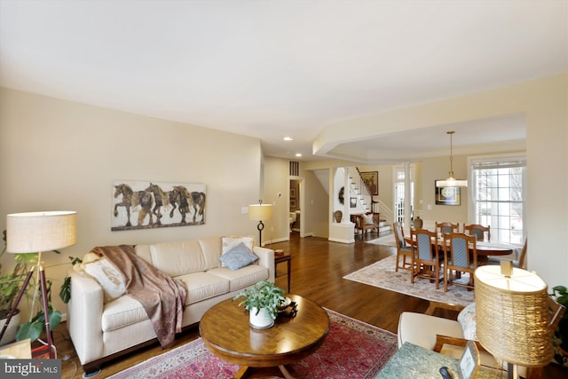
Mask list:
[[[71,299],[67,304],[67,329],[81,364],[103,357],[103,288],[96,280],[77,272],[71,277]]]

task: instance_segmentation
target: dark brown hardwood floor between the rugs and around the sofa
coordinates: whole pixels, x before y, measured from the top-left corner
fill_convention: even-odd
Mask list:
[[[429,302],[343,279],[348,273],[371,265],[383,257],[396,254],[395,248],[365,243],[375,238],[377,238],[376,233],[367,233],[364,237],[356,237],[357,241],[353,244],[343,244],[317,237],[301,239],[293,233],[290,241],[274,243],[268,248],[283,249],[292,255],[291,293],[308,297],[327,309],[397,333],[398,316],[401,312],[425,312]],[[276,284],[281,288],[287,288],[286,264],[280,264],[277,268]],[[436,315],[456,317],[455,312],[446,310],[440,310]],[[172,348],[192,341],[198,336],[197,328],[186,330],[177,336]],[[55,329],[54,339],[58,348],[58,357],[63,359],[61,377],[63,379],[82,377],[83,369],[68,338],[65,323]],[[96,377],[113,375],[162,352],[165,351],[156,343],[106,364]],[[555,371],[555,368],[547,369],[543,377],[566,377],[565,372]]]

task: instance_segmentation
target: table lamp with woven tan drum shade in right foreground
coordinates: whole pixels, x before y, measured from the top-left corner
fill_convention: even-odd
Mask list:
[[[534,272],[512,265],[484,265],[475,272],[477,339],[498,360],[543,367],[553,358],[547,284]]]

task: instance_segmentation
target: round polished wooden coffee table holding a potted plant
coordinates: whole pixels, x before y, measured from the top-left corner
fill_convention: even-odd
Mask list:
[[[296,317],[280,316],[272,328],[256,329],[248,325],[248,312],[239,301],[225,300],[212,306],[200,321],[205,345],[220,359],[241,365],[235,378],[247,375],[248,367],[280,367],[318,350],[329,332],[329,316],[318,304],[302,296],[287,295],[297,304]]]

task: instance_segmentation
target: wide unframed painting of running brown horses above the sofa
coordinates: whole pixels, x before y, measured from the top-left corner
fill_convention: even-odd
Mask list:
[[[205,224],[205,185],[115,180],[112,231]]]

